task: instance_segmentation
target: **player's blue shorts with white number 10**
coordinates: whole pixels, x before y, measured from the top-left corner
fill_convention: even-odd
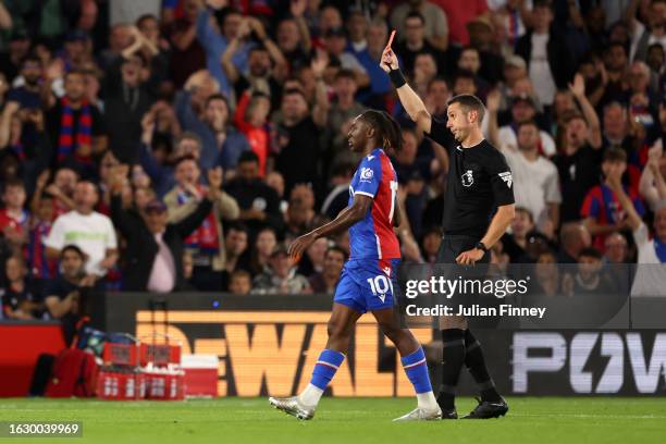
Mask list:
[[[351,259],[335,287],[334,303],[365,313],[394,306],[399,259]]]

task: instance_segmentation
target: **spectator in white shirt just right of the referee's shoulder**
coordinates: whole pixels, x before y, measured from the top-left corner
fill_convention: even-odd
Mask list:
[[[539,127],[534,122],[518,125],[517,141],[517,148],[499,145],[514,174],[516,206],[530,210],[540,230],[554,230],[562,202],[557,168],[539,153]]]

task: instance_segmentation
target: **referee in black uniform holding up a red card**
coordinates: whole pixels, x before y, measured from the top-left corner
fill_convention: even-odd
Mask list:
[[[455,96],[448,101],[447,121],[437,121],[407,84],[391,48],[384,50],[380,65],[388,73],[403,107],[419,130],[448,150],[451,160],[442,223],[444,237],[437,263],[489,263],[489,249],[506,232],[514,219],[515,206],[513,177],[506,160],[481,132],[483,103],[472,95]],[[437,403],[442,408],[442,419],[458,418],[455,391],[462,363],[481,392],[481,402],[464,418],[504,416],[508,405],[497,393],[479,342],[467,326],[467,320],[461,316],[440,318],[443,362]]]

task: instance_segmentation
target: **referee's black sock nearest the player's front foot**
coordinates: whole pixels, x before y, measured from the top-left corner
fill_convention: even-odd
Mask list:
[[[443,410],[455,408],[456,386],[465,362],[465,331],[442,330],[442,385],[437,404]]]

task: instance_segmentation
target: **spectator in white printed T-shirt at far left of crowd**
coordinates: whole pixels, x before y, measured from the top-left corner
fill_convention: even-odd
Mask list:
[[[67,245],[76,245],[87,256],[86,273],[97,278],[118,260],[118,243],[111,220],[94,210],[99,200],[97,187],[87,181],[76,184],[75,209],[61,214],[45,240],[47,257],[55,259]]]

